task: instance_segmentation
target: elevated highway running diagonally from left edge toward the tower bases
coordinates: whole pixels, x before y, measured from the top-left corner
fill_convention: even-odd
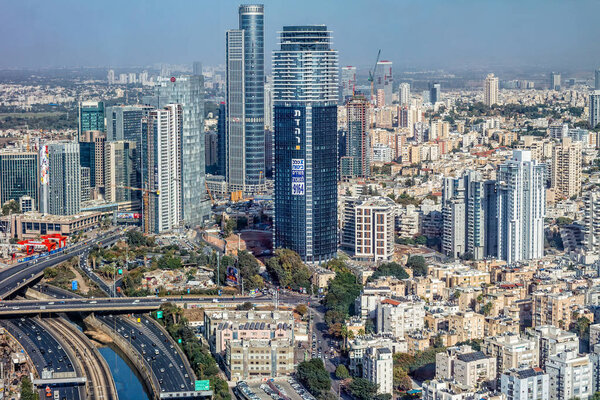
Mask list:
[[[121,233],[109,231],[102,236],[67,246],[59,253],[0,270],[0,298],[4,299],[21,289],[25,284],[41,275],[44,269],[77,256],[94,245],[109,246],[120,238]]]

